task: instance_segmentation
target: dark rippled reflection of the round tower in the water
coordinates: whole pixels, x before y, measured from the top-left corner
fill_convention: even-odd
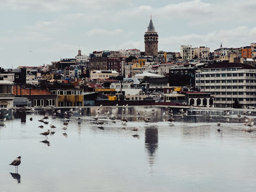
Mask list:
[[[155,153],[158,148],[158,129],[155,127],[145,128],[145,148],[148,150],[148,162],[152,166],[155,162]]]

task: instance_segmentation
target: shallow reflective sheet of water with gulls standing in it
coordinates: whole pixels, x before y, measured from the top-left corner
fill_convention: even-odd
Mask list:
[[[2,109],[8,120],[0,124],[0,191],[255,191],[256,132],[245,132],[244,121],[255,121],[256,112],[238,118],[242,111],[178,110],[170,123],[165,107],[74,109],[64,134],[68,109],[57,116]],[[108,111],[127,117],[127,125],[109,119]],[[48,124],[38,121],[44,115]],[[57,128],[45,140],[40,133],[50,124]],[[18,156],[18,174],[11,175]]]

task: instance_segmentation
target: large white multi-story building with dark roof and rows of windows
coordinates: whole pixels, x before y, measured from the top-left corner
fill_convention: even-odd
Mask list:
[[[242,63],[216,63],[196,71],[196,88],[210,92],[215,107],[256,107],[256,68]]]

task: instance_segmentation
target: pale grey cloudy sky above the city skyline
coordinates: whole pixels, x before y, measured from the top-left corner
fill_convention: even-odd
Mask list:
[[[158,50],[256,42],[255,0],[1,0],[0,67],[39,66],[77,50],[137,48],[152,13]]]

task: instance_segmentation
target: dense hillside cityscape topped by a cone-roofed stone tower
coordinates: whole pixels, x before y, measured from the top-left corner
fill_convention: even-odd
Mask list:
[[[180,52],[171,52],[158,50],[158,38],[151,18],[144,51],[83,55],[79,48],[74,58],[51,64],[1,68],[0,107],[256,107],[256,43],[228,48],[220,42],[212,52],[207,45],[181,45]]]

